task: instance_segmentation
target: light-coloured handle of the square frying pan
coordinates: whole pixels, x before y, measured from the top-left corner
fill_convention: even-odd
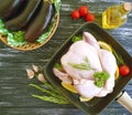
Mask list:
[[[125,91],[122,91],[116,101],[124,108],[127,108],[130,113],[132,113],[132,98]]]

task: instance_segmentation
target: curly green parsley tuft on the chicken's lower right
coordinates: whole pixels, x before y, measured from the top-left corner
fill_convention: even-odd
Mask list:
[[[98,87],[102,87],[105,82],[110,77],[110,75],[102,71],[102,72],[96,72],[94,74],[94,77],[95,77],[95,84],[98,86]]]

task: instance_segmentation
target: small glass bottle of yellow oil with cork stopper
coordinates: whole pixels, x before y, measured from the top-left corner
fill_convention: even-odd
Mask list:
[[[116,29],[127,22],[128,13],[131,11],[131,2],[111,6],[102,13],[102,28]]]

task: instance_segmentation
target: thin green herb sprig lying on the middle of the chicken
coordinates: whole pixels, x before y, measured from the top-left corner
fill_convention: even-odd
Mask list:
[[[90,70],[90,63],[88,61],[87,58],[84,59],[84,62],[82,63],[72,63],[72,62],[68,62],[68,64],[75,69],[79,69],[79,70]]]

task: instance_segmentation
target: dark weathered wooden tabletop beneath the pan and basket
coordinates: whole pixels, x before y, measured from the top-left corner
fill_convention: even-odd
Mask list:
[[[74,21],[70,11],[86,4],[94,13],[107,7],[131,0],[63,0],[61,20],[52,40],[41,49],[21,52],[0,42],[0,115],[84,115],[74,105],[57,105],[31,97],[36,92],[28,84],[25,69],[32,64],[44,66],[59,45],[85,21]],[[98,18],[97,18],[98,19]],[[107,30],[132,55],[132,12],[121,28]],[[124,87],[132,97],[132,81]],[[112,102],[101,115],[131,115],[117,102]]]

